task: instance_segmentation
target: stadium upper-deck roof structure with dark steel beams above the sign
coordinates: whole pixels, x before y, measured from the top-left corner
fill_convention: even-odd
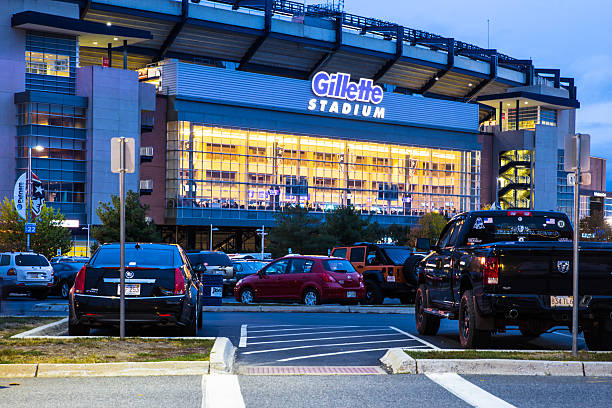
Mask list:
[[[76,3],[80,18],[149,31],[128,45],[133,67],[178,58],[292,78],[345,72],[395,86],[396,92],[475,101],[508,88],[545,81],[568,90],[572,78],[454,38],[325,6],[285,0],[60,0]],[[106,49],[81,42],[83,61]],[[120,45],[113,51],[122,52]]]

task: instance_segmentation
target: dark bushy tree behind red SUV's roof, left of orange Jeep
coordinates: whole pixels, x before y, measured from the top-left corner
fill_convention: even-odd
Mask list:
[[[277,258],[291,252],[324,255],[333,241],[324,233],[321,222],[300,206],[287,206],[275,215],[276,224],[270,229],[268,249]]]

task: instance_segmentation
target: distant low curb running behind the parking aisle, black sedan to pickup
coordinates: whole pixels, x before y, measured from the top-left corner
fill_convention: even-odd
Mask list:
[[[413,307],[395,306],[203,306],[202,312],[414,314]]]

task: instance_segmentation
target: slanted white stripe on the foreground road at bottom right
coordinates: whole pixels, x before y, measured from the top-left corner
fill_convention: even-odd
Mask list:
[[[514,405],[508,404],[501,398],[488,393],[480,387],[475,386],[468,380],[460,377],[455,373],[441,373],[441,374],[426,374],[426,376],[442,386],[455,396],[461,398],[463,401],[474,407],[496,407],[496,408],[515,408]]]

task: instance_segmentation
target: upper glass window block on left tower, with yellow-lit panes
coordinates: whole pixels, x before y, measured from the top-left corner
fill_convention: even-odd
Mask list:
[[[26,34],[26,90],[74,95],[77,38],[28,31]]]

